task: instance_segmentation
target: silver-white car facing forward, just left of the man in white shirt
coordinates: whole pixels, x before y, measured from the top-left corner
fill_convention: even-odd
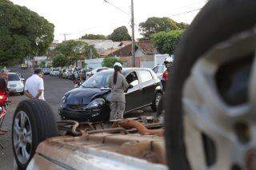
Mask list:
[[[21,95],[24,94],[24,84],[18,73],[8,74],[7,88],[10,93],[19,93]]]

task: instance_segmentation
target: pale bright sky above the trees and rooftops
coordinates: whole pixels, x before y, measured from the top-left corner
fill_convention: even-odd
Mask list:
[[[118,26],[130,31],[130,0],[10,0],[46,18],[55,26],[54,39],[78,39],[84,34],[109,35]],[[150,17],[169,17],[176,22],[192,22],[205,0],[134,0],[135,38],[138,25]],[[189,12],[196,10],[194,12]],[[186,14],[184,14],[186,13]]]

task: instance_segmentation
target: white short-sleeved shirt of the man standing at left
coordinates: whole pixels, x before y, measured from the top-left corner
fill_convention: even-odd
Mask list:
[[[43,91],[44,91],[43,80],[37,74],[33,74],[31,77],[29,77],[26,80],[25,90],[27,90],[32,95],[32,97],[35,98],[38,94],[39,89],[42,89],[42,94],[38,99],[45,100],[44,94],[43,94]]]

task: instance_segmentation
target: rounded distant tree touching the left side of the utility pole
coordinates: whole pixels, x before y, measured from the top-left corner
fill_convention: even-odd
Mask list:
[[[126,26],[121,26],[114,29],[113,33],[108,36],[108,39],[113,42],[130,41],[131,37]]]

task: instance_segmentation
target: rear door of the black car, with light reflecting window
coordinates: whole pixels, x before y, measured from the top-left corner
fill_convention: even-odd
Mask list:
[[[142,90],[142,105],[150,105],[154,101],[155,89],[157,83],[149,70],[138,70],[138,77],[140,79],[140,89]]]

